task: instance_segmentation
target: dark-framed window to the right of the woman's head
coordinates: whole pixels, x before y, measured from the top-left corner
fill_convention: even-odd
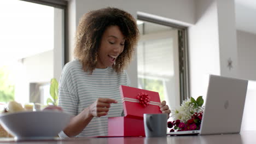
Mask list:
[[[159,92],[174,109],[189,97],[186,29],[138,15],[138,88]]]

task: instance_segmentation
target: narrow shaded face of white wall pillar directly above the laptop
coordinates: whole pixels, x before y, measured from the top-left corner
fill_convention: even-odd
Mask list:
[[[235,3],[217,0],[220,75],[238,77]],[[232,68],[228,67],[229,59]]]

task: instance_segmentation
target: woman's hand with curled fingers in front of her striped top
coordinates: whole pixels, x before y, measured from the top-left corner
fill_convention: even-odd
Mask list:
[[[94,117],[101,117],[108,115],[110,104],[118,103],[117,100],[109,98],[98,98],[93,104],[89,106],[89,113]]]

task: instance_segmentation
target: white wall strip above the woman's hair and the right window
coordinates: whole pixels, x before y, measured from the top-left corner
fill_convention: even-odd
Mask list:
[[[124,9],[127,12],[131,13],[134,17],[136,17],[137,11],[142,11],[144,13],[159,15],[169,19],[183,21],[187,23],[195,22],[195,5],[193,0],[162,0],[161,2],[153,0],[76,0],[76,22],[78,23],[80,17],[84,13],[88,13],[88,11],[90,10],[106,7],[117,7]]]

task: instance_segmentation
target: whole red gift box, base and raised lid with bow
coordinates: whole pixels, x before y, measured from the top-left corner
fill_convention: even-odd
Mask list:
[[[120,86],[124,117],[108,118],[108,136],[145,136],[143,114],[162,113],[158,92]]]

